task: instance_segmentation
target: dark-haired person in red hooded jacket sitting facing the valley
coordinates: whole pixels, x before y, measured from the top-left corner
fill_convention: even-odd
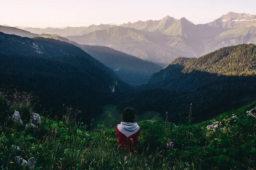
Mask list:
[[[137,151],[140,126],[134,123],[135,111],[133,108],[125,108],[122,113],[123,122],[116,125],[119,147],[131,152]]]

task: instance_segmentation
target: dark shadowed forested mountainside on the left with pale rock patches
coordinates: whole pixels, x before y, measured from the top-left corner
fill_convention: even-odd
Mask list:
[[[41,99],[37,109],[55,113],[72,105],[87,121],[130,90],[110,68],[67,42],[0,33],[0,56],[0,84],[34,91]]]

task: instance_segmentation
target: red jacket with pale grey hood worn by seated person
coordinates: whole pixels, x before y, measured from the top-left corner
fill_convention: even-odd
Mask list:
[[[116,125],[118,144],[121,148],[128,148],[131,152],[137,150],[140,126],[137,123],[121,122]]]

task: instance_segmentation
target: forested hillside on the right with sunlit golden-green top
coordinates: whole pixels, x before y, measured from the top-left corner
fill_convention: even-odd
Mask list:
[[[178,122],[193,105],[195,121],[247,104],[256,95],[256,45],[242,44],[196,58],[178,58],[154,74],[119,108],[169,111]]]

